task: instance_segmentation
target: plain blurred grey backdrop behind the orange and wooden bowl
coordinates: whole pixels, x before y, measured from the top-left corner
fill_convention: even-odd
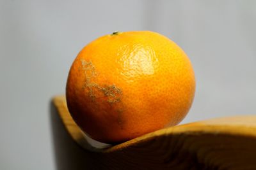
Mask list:
[[[196,96],[183,123],[255,114],[256,1],[0,0],[0,169],[55,169],[49,102],[93,39],[150,30],[188,54]]]

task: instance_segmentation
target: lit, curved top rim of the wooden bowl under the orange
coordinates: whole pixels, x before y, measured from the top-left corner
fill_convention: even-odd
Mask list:
[[[88,138],[80,129],[70,116],[67,109],[65,96],[53,97],[52,103],[56,106],[58,113],[60,114],[61,120],[65,125],[68,133],[79,145],[86,150],[93,152],[110,153],[118,150],[124,150],[131,146],[140,145],[147,141],[152,141],[161,136],[175,136],[182,134],[183,136],[193,135],[220,135],[227,134],[230,136],[246,136],[256,139],[256,116],[236,116],[236,117],[225,117],[225,118],[214,118],[211,120],[204,120],[200,122],[194,122],[190,124],[177,125],[174,127],[168,127],[159,131],[145,134],[139,138],[132,139],[119,145],[111,146],[103,143],[94,141]]]

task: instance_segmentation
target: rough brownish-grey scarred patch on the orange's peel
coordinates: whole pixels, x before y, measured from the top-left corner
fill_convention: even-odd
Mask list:
[[[79,70],[82,70],[85,74],[85,79],[83,83],[83,89],[88,89],[88,96],[92,101],[95,103],[95,99],[97,97],[97,94],[102,94],[102,96],[106,97],[106,101],[110,106],[112,107],[113,104],[117,104],[116,107],[118,108],[116,111],[117,114],[117,122],[120,125],[121,128],[123,128],[123,121],[122,121],[122,112],[123,107],[121,106],[122,103],[120,103],[122,99],[122,89],[120,87],[117,87],[115,84],[112,85],[102,85],[93,82],[93,78],[97,77],[97,72],[95,71],[95,66],[93,65],[92,61],[86,61],[81,59],[82,67]]]

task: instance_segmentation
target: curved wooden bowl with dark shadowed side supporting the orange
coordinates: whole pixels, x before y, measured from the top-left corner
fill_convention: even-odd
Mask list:
[[[85,136],[64,96],[52,99],[51,122],[57,169],[256,170],[256,115],[177,125],[115,146]]]

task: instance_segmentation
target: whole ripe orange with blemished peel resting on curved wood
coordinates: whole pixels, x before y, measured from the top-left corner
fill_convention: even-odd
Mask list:
[[[186,53],[151,31],[95,39],[77,55],[66,87],[77,125],[104,143],[179,124],[194,94],[195,75]]]

